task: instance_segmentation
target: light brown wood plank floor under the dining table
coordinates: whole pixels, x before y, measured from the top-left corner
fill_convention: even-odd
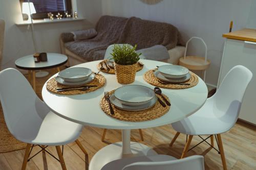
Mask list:
[[[53,74],[51,70],[51,74]],[[41,96],[40,91],[42,85],[48,78],[37,79],[37,94]],[[2,108],[0,108],[2,111]],[[218,125],[216,125],[218,126]],[[104,142],[101,142],[101,134],[103,129],[85,127],[82,131],[79,140],[84,148],[89,153],[89,161],[93,155],[103,148],[104,146],[121,141],[120,130],[109,130],[106,133]],[[173,145],[173,148],[169,148],[168,144],[174,137],[175,131],[170,125],[144,129],[144,141],[142,143],[152,147],[159,154],[171,155],[176,158],[181,156],[184,148],[186,136],[180,135]],[[139,131],[132,130],[133,141],[139,141]],[[228,169],[256,169],[256,128],[238,122],[234,128],[229,132],[222,135],[225,156]],[[200,141],[199,137],[194,137],[191,142],[191,146],[197,144]],[[141,141],[140,141],[141,142]],[[215,142],[217,146],[217,143]],[[87,158],[79,150],[75,143],[70,143],[64,147],[64,158],[67,168],[69,170],[74,169],[88,169],[88,164],[85,161]],[[54,156],[57,156],[55,147],[49,147],[47,149]],[[36,153],[39,148],[35,148],[32,151]],[[0,154],[0,169],[1,170],[16,170],[20,169],[23,161],[25,150],[14,151],[9,153]],[[202,143],[195,149],[188,152],[189,155],[204,155],[205,169],[222,169],[222,162],[220,155],[214,150],[208,147],[207,144]],[[61,169],[60,164],[53,157],[47,153],[40,153],[35,156],[30,162],[28,162],[27,169],[44,169],[55,170]]]

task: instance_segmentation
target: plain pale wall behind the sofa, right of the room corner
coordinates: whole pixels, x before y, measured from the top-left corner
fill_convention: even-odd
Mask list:
[[[230,20],[234,21],[233,30],[244,28],[249,22],[253,22],[254,25],[250,23],[250,26],[255,28],[256,3],[254,1],[253,7],[252,2],[251,0],[163,0],[156,5],[147,5],[139,0],[102,0],[102,14],[137,16],[168,22],[180,30],[184,40],[192,36],[202,37],[208,45],[208,58],[211,60],[206,82],[217,85],[224,43],[222,34],[228,32]],[[195,42],[189,53],[203,53],[202,46]]]

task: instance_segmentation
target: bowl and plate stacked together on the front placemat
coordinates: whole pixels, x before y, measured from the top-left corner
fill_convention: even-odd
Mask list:
[[[157,102],[157,96],[151,88],[127,85],[116,89],[111,94],[110,101],[119,109],[140,111],[153,107]]]

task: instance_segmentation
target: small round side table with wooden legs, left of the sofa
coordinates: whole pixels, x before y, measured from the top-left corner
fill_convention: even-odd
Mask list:
[[[68,57],[62,54],[57,53],[47,53],[48,61],[38,62],[34,61],[33,55],[28,55],[22,58],[19,58],[15,61],[17,68],[25,69],[29,71],[29,81],[31,82],[33,89],[36,90],[35,86],[35,71],[41,69],[49,69],[57,67],[57,70],[60,71],[59,66],[67,63]]]

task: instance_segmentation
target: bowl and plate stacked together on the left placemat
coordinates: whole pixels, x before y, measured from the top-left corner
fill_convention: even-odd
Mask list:
[[[60,71],[55,80],[61,85],[80,86],[93,81],[94,78],[95,74],[91,69],[74,67]]]

